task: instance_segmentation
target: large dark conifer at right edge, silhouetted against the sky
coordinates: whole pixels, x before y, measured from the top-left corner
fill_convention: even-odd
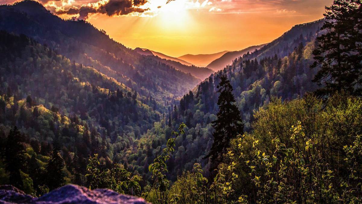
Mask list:
[[[360,0],[334,0],[326,7],[325,23],[321,30],[327,33],[317,37],[313,51],[315,62],[311,68],[320,68],[313,82],[325,84],[319,95],[336,91],[362,94],[362,13]]]

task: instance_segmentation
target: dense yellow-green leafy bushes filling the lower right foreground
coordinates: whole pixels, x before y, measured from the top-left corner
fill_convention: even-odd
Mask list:
[[[237,185],[228,192],[252,203],[361,202],[362,163],[356,156],[361,154],[362,125],[354,121],[362,114],[361,98],[335,95],[322,107],[320,100],[307,96],[274,100],[257,113],[255,131],[234,140],[230,162],[220,165],[238,175],[229,174]],[[265,134],[265,127],[274,131]]]

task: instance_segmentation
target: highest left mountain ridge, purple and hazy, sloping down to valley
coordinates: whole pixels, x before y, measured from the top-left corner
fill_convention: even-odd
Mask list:
[[[158,107],[192,89],[201,79],[157,56],[143,56],[82,20],[63,20],[36,1],[0,6],[0,29],[25,34],[71,61],[100,70]],[[148,104],[151,105],[151,104]],[[152,105],[153,106],[153,105]]]

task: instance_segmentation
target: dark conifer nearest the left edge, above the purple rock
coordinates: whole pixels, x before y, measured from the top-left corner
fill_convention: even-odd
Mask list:
[[[10,172],[10,184],[18,188],[22,187],[20,171],[23,169],[25,163],[25,148],[21,140],[22,135],[18,131],[18,128],[14,126],[9,132],[4,152],[6,170]]]

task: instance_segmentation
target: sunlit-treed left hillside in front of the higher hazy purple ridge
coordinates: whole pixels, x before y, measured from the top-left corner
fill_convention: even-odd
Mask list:
[[[136,91],[96,69],[24,35],[0,36],[1,137],[17,126],[38,159],[57,143],[69,168],[84,171],[94,153],[117,161],[160,120]],[[79,159],[74,163],[70,155]]]

